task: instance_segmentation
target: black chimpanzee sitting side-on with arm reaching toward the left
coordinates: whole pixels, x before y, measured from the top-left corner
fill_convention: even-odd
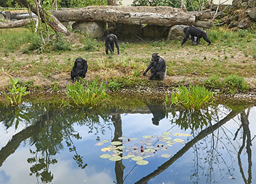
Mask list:
[[[158,53],[152,54],[151,62],[149,67],[146,68],[143,75],[146,76],[146,72],[151,69],[151,76],[149,76],[149,80],[163,80],[166,76],[166,62],[164,59],[159,57]]]

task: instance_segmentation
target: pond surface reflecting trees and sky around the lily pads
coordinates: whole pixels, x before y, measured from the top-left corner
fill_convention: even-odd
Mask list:
[[[0,144],[0,176],[6,171],[4,161],[11,159],[12,154],[16,155],[22,142],[26,145],[23,149],[30,154],[26,159],[30,171],[26,173],[36,176],[37,183],[55,183],[56,170],[51,168],[58,168],[63,159],[73,159],[77,168],[87,173],[92,166],[96,173],[109,171],[112,162],[101,159],[100,149],[94,146],[105,137],[115,142],[120,141],[118,138],[123,136],[139,138],[142,134],[159,134],[159,142],[161,132],[183,130],[190,132],[192,136],[187,138],[186,144],[169,145],[172,155],[169,159],[161,158],[159,151],[156,151],[146,166],[137,166],[136,163],[123,159],[115,161],[114,173],[110,174],[110,177],[115,178],[112,183],[225,183],[229,180],[233,183],[253,182],[252,163],[255,161],[252,160],[252,141],[256,132],[251,132],[249,120],[250,114],[254,117],[252,120],[255,120],[254,107],[213,105],[191,114],[176,108],[165,110],[161,104],[145,103],[146,106],[137,108],[136,111],[63,109],[55,103],[25,103],[16,109],[1,108],[3,126],[0,133],[7,134],[5,131],[11,127],[14,127],[14,131],[10,130],[12,137],[6,140],[6,144]],[[153,123],[149,124],[148,120]],[[233,122],[233,125],[227,125],[228,122]],[[84,127],[87,132],[82,131]],[[81,145],[81,141],[87,144]],[[126,146],[124,142],[122,145]],[[66,152],[72,155],[65,156]],[[246,152],[247,159],[243,152]],[[127,153],[123,152],[119,156],[125,154]],[[190,159],[186,160],[186,155]],[[188,166],[185,164],[183,167],[184,163]],[[173,173],[169,173],[170,170],[179,171],[182,175],[175,177]],[[215,177],[217,174],[220,177]],[[62,182],[68,177],[63,176]],[[96,183],[96,180],[91,181]],[[104,183],[103,178],[101,182]],[[12,182],[0,179],[0,183]],[[33,183],[33,179],[21,183]]]

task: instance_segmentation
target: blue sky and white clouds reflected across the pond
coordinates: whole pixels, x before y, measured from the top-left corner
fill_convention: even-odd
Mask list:
[[[246,110],[247,112],[247,110]],[[225,112],[228,114],[228,112]],[[142,136],[144,135],[157,135],[161,136],[162,132],[166,132],[171,127],[171,134],[169,137],[171,139],[175,138],[181,138],[184,139],[185,142],[189,142],[193,137],[174,137],[174,133],[182,132],[178,126],[171,125],[169,119],[162,119],[159,122],[159,125],[153,125],[151,118],[153,115],[151,114],[122,114],[122,136],[127,138],[137,137],[137,141],[133,142],[139,142],[139,139],[143,139]],[[225,117],[225,114],[223,114],[223,117]],[[223,118],[220,117],[220,120]],[[250,122],[250,131],[251,131],[251,138],[254,137],[256,134],[256,108],[252,108],[250,110],[250,116],[249,116],[249,122]],[[233,120],[230,120],[228,123],[226,123],[223,127],[221,127],[218,131],[214,132],[215,136],[218,136],[219,139],[215,139],[215,145],[218,144],[218,154],[214,154],[214,161],[216,161],[216,158],[218,158],[220,169],[216,164],[213,164],[213,178],[217,181],[217,183],[244,183],[241,177],[241,173],[239,171],[238,167],[238,159],[237,159],[237,151],[238,151],[238,145],[241,145],[242,142],[242,134],[241,131],[238,133],[238,137],[235,141],[233,141],[233,137],[235,132],[238,130],[238,127],[240,125],[240,115],[239,117],[235,117]],[[84,163],[87,163],[88,165],[85,167],[85,169],[78,168],[77,163],[72,159],[74,152],[69,152],[67,147],[65,147],[64,150],[59,151],[58,154],[55,155],[55,158],[58,160],[58,163],[56,164],[50,164],[50,171],[53,173],[53,183],[113,183],[113,181],[116,181],[116,176],[114,173],[114,167],[115,162],[109,161],[108,159],[100,159],[100,154],[109,154],[100,151],[100,149],[104,148],[105,146],[109,145],[110,143],[105,143],[102,146],[95,146],[96,143],[96,137],[99,136],[100,140],[102,139],[113,139],[114,138],[114,125],[111,125],[111,130],[105,128],[105,134],[101,134],[99,132],[97,135],[95,135],[95,132],[92,132],[88,134],[88,128],[85,126],[79,126],[74,125],[75,130],[80,133],[80,136],[82,139],[73,139],[73,142],[75,146],[77,147],[78,154],[80,154],[83,157]],[[5,146],[7,142],[9,142],[9,139],[11,139],[12,134],[16,134],[20,132],[24,127],[19,126],[18,130],[14,130],[14,127],[10,127],[9,130],[4,130],[4,126],[0,124],[0,147]],[[228,134],[228,137],[230,140],[228,140],[223,133],[223,130],[225,130],[225,133]],[[190,134],[191,131],[187,130],[186,133]],[[205,168],[204,171],[202,171],[199,168],[199,178],[198,183],[206,183],[206,178],[203,176],[204,174],[208,173],[208,163],[204,163],[204,159],[206,156],[208,156],[208,153],[202,152],[208,150],[210,151],[210,145],[212,142],[212,136],[213,134],[209,134],[208,137],[205,139],[200,140],[197,143],[197,151],[198,154],[200,154],[198,157],[200,158],[201,166]],[[216,137],[215,137],[216,138]],[[131,142],[130,144],[132,144]],[[229,154],[227,154],[226,149],[222,149],[221,142],[232,142],[232,144],[235,146],[236,151],[234,151],[234,147],[232,144],[225,144],[226,148],[230,150]],[[253,155],[256,153],[256,146],[254,145],[255,139],[252,142],[252,183],[255,182],[255,177],[253,177],[255,169],[255,159]],[[28,142],[27,142],[28,144]],[[27,145],[26,144],[26,145]],[[65,143],[63,143],[65,145]],[[128,146],[127,144],[124,144],[124,146]],[[122,160],[122,163],[125,167],[124,169],[124,176],[123,178],[126,178],[124,183],[135,183],[144,176],[147,176],[149,173],[156,170],[159,166],[161,166],[162,163],[168,161],[169,159],[161,158],[161,154],[169,153],[171,156],[174,156],[178,150],[180,150],[185,144],[179,144],[176,143],[173,146],[168,146],[168,151],[160,151],[157,152],[156,156],[152,158],[146,159],[149,161],[149,164],[146,166],[136,166],[134,170],[127,176],[129,171],[132,170],[132,168],[135,165],[135,161],[131,161],[131,159],[128,160]],[[31,149],[35,150],[34,146],[31,146]],[[155,178],[152,178],[149,180],[149,183],[165,183],[165,184],[171,184],[171,183],[193,183],[195,181],[195,178],[191,179],[191,175],[194,173],[194,161],[195,159],[195,147],[189,149],[181,158],[176,160],[169,168],[166,169],[163,173],[161,173],[159,176],[156,176]],[[3,166],[1,166],[0,170],[0,183],[6,183],[6,184],[13,184],[13,183],[19,183],[19,184],[27,184],[27,183],[37,183],[36,177],[29,176],[29,169],[31,167],[30,163],[27,163],[27,159],[31,157],[31,154],[29,153],[29,149],[27,146],[24,147],[23,142],[19,146],[19,148],[15,151],[14,154],[11,154],[6,161],[4,161]],[[223,159],[221,159],[221,157]],[[230,159],[230,157],[233,157]],[[242,151],[241,155],[242,159],[242,167],[244,169],[245,178],[247,178],[247,154],[245,149]],[[254,160],[253,160],[254,159]],[[227,167],[223,165],[223,162],[227,163],[228,166],[233,164],[233,168],[235,169],[233,171],[233,168],[230,168],[230,173],[233,174],[233,178],[235,180],[230,179],[230,174],[227,171]],[[233,163],[232,163],[233,162]],[[223,171],[221,171],[223,169]],[[203,173],[204,172],[204,173]],[[223,178],[222,178],[223,177]],[[41,180],[38,178],[39,182],[41,183]],[[210,183],[210,182],[209,182]],[[212,183],[212,182],[211,182]]]

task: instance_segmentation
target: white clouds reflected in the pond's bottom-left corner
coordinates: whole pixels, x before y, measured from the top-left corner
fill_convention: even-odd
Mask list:
[[[29,176],[30,167],[32,166],[26,161],[29,157],[31,157],[31,154],[29,154],[28,149],[18,149],[15,156],[14,154],[9,156],[1,167],[1,172],[4,173],[1,173],[0,176],[6,177],[1,178],[0,183],[37,183],[35,175]],[[82,170],[78,167],[74,168],[73,165],[74,161],[72,159],[68,161],[58,159],[57,164],[50,165],[50,171],[53,173],[53,183],[113,183],[114,178],[110,178],[109,171],[97,173],[94,168],[89,166]],[[38,178],[38,180],[41,184],[41,179]]]

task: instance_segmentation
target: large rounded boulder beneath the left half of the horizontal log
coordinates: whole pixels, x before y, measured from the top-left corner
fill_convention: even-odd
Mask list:
[[[75,22],[73,30],[81,30],[82,34],[90,35],[91,38],[100,38],[106,30],[106,23],[101,22]]]

